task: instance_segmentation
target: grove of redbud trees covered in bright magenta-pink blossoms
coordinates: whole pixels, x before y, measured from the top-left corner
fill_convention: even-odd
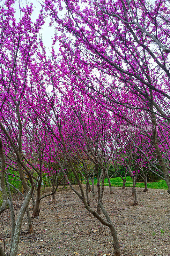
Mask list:
[[[29,232],[33,231],[29,202],[33,201],[32,217],[38,217],[41,200],[55,199],[58,186],[66,180],[85,208],[110,228],[114,256],[120,256],[116,230],[102,203],[105,178],[113,193],[109,167],[114,166],[123,188],[127,172],[131,175],[134,205],[137,178],[142,177],[147,191],[149,171],[166,180],[170,193],[167,2],[84,1],[80,11],[76,1],[48,0],[41,4],[35,22],[33,4],[19,6],[17,21],[14,3],[1,1],[0,13],[0,213],[8,204],[9,255],[17,255],[25,212]],[[63,19],[57,8],[65,13]],[[39,37],[47,15],[50,25],[56,26],[51,59]],[[69,180],[70,170],[79,190]],[[44,173],[53,188],[42,196]],[[96,210],[89,198],[89,179],[95,197],[94,174]],[[9,183],[9,175],[24,189],[17,219],[10,189],[18,189]],[[2,247],[0,252],[5,255]]]

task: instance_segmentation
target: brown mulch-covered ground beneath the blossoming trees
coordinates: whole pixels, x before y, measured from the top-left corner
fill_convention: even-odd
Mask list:
[[[75,186],[77,189],[78,187]],[[95,187],[95,189],[97,189]],[[42,194],[51,188],[45,188]],[[97,190],[95,191],[97,193]],[[161,194],[163,193],[163,195]],[[96,198],[90,194],[91,206],[96,208]],[[170,256],[170,195],[166,190],[137,188],[138,206],[132,206],[131,188],[114,187],[109,194],[105,187],[103,205],[117,230],[122,256]],[[17,210],[18,198],[14,201]],[[18,202],[18,208],[21,201]],[[27,232],[24,217],[18,255],[32,256],[98,256],[113,254],[110,230],[88,212],[70,188],[58,188],[56,200],[51,196],[41,201],[40,219],[32,219],[33,234]],[[33,208],[30,202],[30,212]],[[10,212],[2,214],[4,236],[10,244]],[[43,240],[43,241],[41,241]],[[0,225],[0,243],[3,245],[3,228]],[[106,256],[106,255],[105,255]]]

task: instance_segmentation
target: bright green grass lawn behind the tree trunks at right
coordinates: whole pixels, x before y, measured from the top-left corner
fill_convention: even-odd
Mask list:
[[[90,184],[92,184],[91,180]],[[120,177],[112,178],[110,179],[112,187],[122,187],[123,181]],[[94,180],[94,185],[97,185],[97,180]],[[108,180],[105,179],[105,186],[109,186]],[[126,185],[125,187],[132,187],[132,178],[126,177]],[[137,182],[136,183],[137,188],[144,188],[144,182]],[[156,189],[167,189],[166,181],[165,180],[159,180],[157,182],[148,182],[148,188],[156,188]]]

